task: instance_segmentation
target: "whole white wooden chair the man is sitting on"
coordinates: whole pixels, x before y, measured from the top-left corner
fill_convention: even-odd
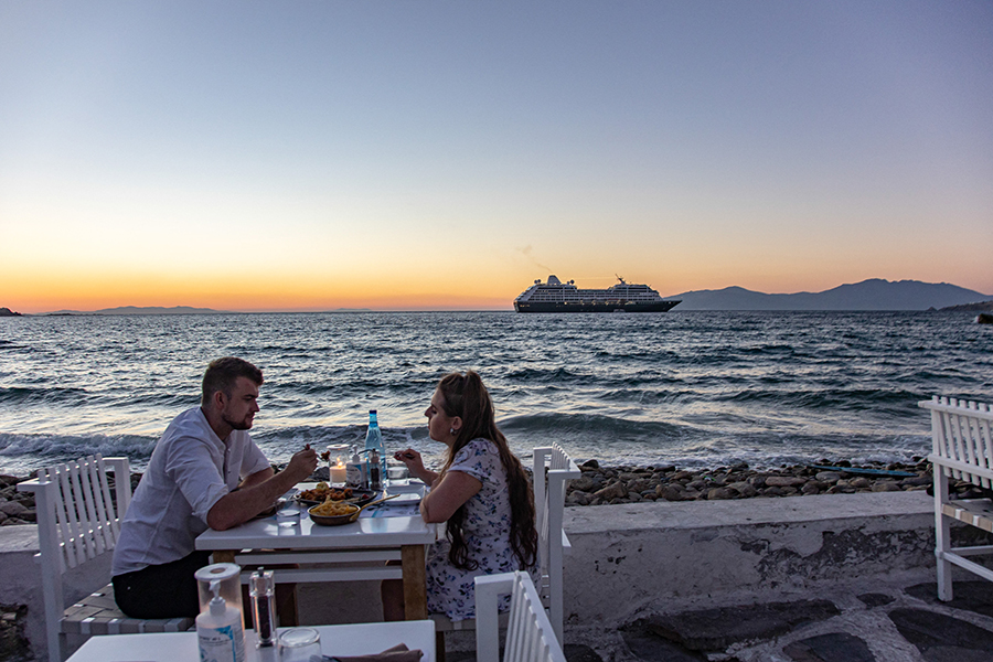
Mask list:
[[[110,498],[107,469],[114,471],[115,501]],[[38,472],[38,478],[18,483],[18,491],[34,492],[38,511],[39,554],[42,596],[45,602],[45,631],[49,660],[61,662],[64,647],[93,634],[135,632],[182,632],[192,618],[161,620],[132,619],[117,609],[114,587],[103,575],[105,566],[95,563],[113,554],[120,527],[118,522],[131,500],[127,458],[103,458],[99,453]],[[106,560],[106,557],[100,559]],[[79,573],[92,581],[86,590],[95,592],[72,601],[63,590],[63,575],[73,568],[100,566],[96,577]],[[66,599],[71,602],[66,607]]]

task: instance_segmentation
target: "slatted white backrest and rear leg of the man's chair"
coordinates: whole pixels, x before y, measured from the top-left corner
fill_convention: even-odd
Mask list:
[[[116,503],[107,469],[114,471]],[[18,491],[34,492],[49,650],[58,651],[60,622],[66,607],[62,576],[117,545],[119,521],[131,500],[128,459],[97,453],[41,469],[38,478],[18,483]],[[107,581],[109,577],[94,577],[94,588]]]

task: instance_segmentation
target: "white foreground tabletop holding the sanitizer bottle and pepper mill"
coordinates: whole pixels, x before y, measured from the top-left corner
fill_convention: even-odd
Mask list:
[[[367,655],[397,644],[419,649],[420,662],[435,662],[435,623],[430,620],[391,623],[313,626],[324,655]],[[279,631],[285,630],[280,628]],[[278,647],[255,648],[255,631],[245,632],[247,662],[278,662]],[[66,662],[179,662],[199,660],[196,632],[105,634],[90,637]]]

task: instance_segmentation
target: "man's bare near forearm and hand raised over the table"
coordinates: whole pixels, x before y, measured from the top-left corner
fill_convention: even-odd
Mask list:
[[[267,508],[280,494],[306,480],[317,469],[317,451],[306,448],[293,455],[286,469],[274,476],[273,469],[257,471],[246,478],[236,492],[228,492],[207,512],[207,525],[224,531],[247,522]]]

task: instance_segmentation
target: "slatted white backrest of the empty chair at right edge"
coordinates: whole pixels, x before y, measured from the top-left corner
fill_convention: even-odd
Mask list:
[[[938,396],[918,406],[931,410],[933,461],[944,474],[991,489],[993,407]]]

